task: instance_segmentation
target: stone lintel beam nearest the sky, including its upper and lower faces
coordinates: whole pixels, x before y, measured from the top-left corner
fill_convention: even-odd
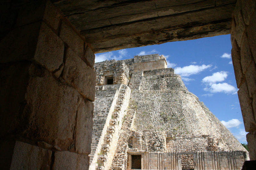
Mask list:
[[[82,30],[95,53],[230,33],[234,4]]]

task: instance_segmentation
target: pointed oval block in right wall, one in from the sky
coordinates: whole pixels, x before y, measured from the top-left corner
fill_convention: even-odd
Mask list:
[[[251,55],[248,39],[246,35],[244,35],[241,43],[241,65],[242,65],[242,70],[244,74],[247,71],[251,61],[252,61],[252,55]]]

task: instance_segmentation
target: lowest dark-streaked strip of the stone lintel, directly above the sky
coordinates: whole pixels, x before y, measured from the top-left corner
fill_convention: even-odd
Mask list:
[[[230,28],[231,19],[227,19],[205,25],[196,25],[178,29],[163,29],[158,30],[157,32],[151,31],[116,39],[101,40],[91,42],[91,45],[94,48],[93,50],[95,53],[104,53],[124,48],[224,35],[230,33]]]

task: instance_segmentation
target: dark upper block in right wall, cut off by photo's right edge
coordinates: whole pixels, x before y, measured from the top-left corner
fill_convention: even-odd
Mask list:
[[[252,55],[254,58],[254,62],[256,62],[256,12],[253,13],[251,17],[250,25],[248,26],[248,42],[250,45],[250,49],[252,51]]]

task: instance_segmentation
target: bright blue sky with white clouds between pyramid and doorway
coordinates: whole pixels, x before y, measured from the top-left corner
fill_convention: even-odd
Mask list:
[[[95,62],[134,55],[164,55],[167,67],[180,74],[188,90],[233,133],[247,143],[231,59],[230,35],[127,48],[95,55]]]

